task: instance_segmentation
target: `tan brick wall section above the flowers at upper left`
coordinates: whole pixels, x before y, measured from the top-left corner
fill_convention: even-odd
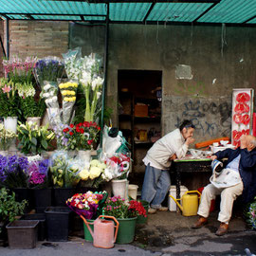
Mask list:
[[[62,57],[68,48],[68,22],[9,21],[9,56]]]

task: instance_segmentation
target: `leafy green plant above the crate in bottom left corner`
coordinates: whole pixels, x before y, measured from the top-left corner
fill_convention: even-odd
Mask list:
[[[24,213],[27,206],[27,200],[23,200],[21,203],[15,201],[15,193],[9,193],[9,190],[2,188],[0,190],[0,220],[3,222],[12,222],[15,220],[15,216]]]

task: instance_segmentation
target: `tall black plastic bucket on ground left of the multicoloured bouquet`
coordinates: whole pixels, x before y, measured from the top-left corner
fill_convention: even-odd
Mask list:
[[[71,210],[67,207],[49,207],[45,212],[47,240],[52,242],[67,241]]]

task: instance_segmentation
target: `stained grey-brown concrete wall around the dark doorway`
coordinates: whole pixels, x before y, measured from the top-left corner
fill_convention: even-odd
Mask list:
[[[192,119],[197,141],[229,136],[232,88],[255,88],[255,44],[255,28],[111,25],[108,103],[117,113],[119,69],[162,70],[163,134]],[[179,64],[191,80],[176,79]]]

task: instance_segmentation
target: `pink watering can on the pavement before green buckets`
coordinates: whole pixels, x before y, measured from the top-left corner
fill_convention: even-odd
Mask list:
[[[104,219],[101,219],[101,217],[103,217]],[[101,215],[93,223],[88,223],[82,215],[81,215],[81,218],[93,237],[94,247],[101,247],[101,248],[114,247],[114,243],[116,242],[118,230],[119,230],[119,222],[115,217]],[[113,219],[116,222],[117,226],[115,226],[113,221],[106,220],[106,218]],[[89,225],[94,225],[94,232],[92,231]],[[115,231],[115,228],[116,228],[116,231]]]

